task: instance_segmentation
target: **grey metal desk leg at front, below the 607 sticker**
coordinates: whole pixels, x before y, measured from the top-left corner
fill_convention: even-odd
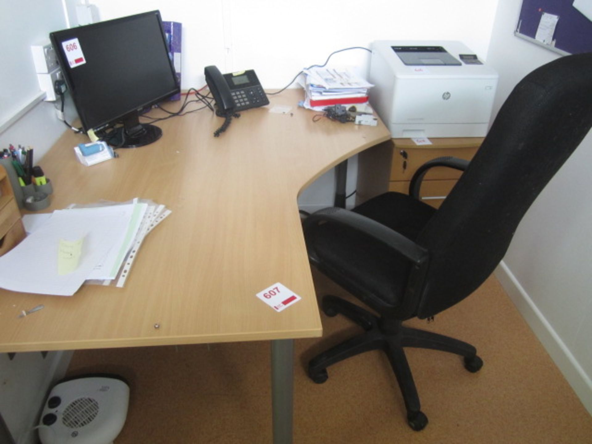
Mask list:
[[[292,443],[292,393],[294,391],[294,340],[271,342],[271,397],[274,444]]]

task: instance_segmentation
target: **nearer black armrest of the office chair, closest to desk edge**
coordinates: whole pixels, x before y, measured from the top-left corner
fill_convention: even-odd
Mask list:
[[[415,265],[422,265],[427,260],[427,250],[407,239],[403,234],[397,233],[371,218],[344,208],[324,208],[311,214],[304,220],[304,233],[306,234],[311,227],[324,221],[361,231],[396,250]]]

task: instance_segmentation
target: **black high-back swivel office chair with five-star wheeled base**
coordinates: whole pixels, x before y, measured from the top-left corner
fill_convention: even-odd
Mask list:
[[[401,323],[459,303],[493,272],[526,210],[592,126],[590,73],[587,53],[562,57],[526,76],[438,210],[417,200],[425,172],[420,169],[411,196],[388,192],[353,211],[327,208],[304,221],[311,263],[379,314],[323,298],[327,316],[341,313],[365,332],[312,359],[308,375],[314,382],[326,381],[326,368],[334,363],[381,349],[397,377],[409,425],[422,430],[427,417],[403,348],[456,353],[468,371],[481,368],[472,345]],[[446,158],[432,164],[466,166]]]

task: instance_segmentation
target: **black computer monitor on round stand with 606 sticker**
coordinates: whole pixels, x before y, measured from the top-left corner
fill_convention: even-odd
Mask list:
[[[146,107],[179,93],[159,11],[56,31],[50,38],[85,131],[115,128],[110,143],[122,147],[159,139],[159,127],[139,121]]]

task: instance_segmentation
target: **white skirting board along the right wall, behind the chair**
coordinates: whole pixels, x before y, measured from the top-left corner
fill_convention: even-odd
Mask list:
[[[510,300],[516,305],[520,314],[529,324],[530,329],[536,334],[543,347],[547,350],[559,371],[574,389],[588,413],[592,414],[592,381],[585,374],[577,359],[565,346],[561,337],[555,332],[545,316],[526,293],[525,289],[517,281],[506,263],[503,261],[494,272],[501,286],[506,290]]]

